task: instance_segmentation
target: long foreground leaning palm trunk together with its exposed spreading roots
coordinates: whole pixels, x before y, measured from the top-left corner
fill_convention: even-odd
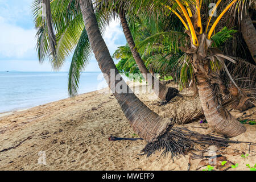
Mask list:
[[[142,150],[144,154],[150,156],[157,150],[164,150],[163,154],[171,152],[173,157],[179,154],[184,155],[186,151],[194,148],[195,143],[226,146],[228,142],[233,142],[219,137],[195,133],[185,128],[173,127],[172,119],[162,118],[148,109],[135,96],[125,81],[122,79],[117,81],[115,79],[113,82],[111,73],[114,71],[115,77],[119,77],[119,73],[98,29],[91,0],[80,0],[80,8],[91,47],[102,73],[105,73],[104,76],[109,88],[112,90],[133,130],[148,142]],[[126,88],[125,91],[127,93],[116,92],[115,86],[117,85],[122,85],[122,89]]]

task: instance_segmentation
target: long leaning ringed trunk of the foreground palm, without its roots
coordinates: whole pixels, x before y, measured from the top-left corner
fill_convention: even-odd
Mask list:
[[[133,130],[147,142],[155,142],[160,135],[166,133],[169,125],[172,125],[171,119],[162,118],[151,111],[135,96],[125,81],[115,79],[119,73],[101,36],[91,0],[80,0],[80,8],[92,50],[109,88]],[[110,74],[112,72],[114,72],[114,78]],[[121,88],[125,92],[116,92],[115,86],[117,85],[122,85]]]

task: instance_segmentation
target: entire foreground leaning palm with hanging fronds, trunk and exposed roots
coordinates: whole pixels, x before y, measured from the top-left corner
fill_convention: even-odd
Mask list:
[[[210,135],[197,134],[184,128],[173,127],[174,123],[172,119],[160,117],[158,114],[148,109],[148,107],[144,105],[135,96],[135,94],[131,91],[129,86],[126,85],[126,82],[122,80],[121,76],[119,76],[119,73],[117,71],[117,68],[115,67],[114,61],[108,51],[108,47],[106,47],[106,44],[102,38],[100,27],[98,26],[98,18],[94,13],[92,1],[80,0],[79,2],[79,1],[69,1],[69,0],[65,0],[65,1],[55,0],[52,2],[55,2],[56,4],[52,5],[51,9],[54,9],[56,7],[58,10],[60,10],[59,8],[61,9],[63,7],[67,8],[67,7],[71,7],[71,5],[76,5],[76,10],[81,9],[80,12],[77,11],[76,13],[82,14],[82,19],[84,20],[85,29],[84,31],[82,31],[81,34],[84,34],[84,35],[86,34],[86,36],[81,35],[80,39],[77,40],[76,50],[77,52],[83,52],[84,49],[88,49],[88,47],[86,46],[84,48],[80,46],[84,45],[82,44],[82,40],[89,41],[90,47],[94,52],[94,56],[98,61],[98,65],[102,73],[104,73],[104,76],[109,85],[109,88],[114,93],[114,96],[117,99],[126,118],[130,122],[131,127],[137,134],[139,134],[144,140],[146,140],[146,142],[148,142],[146,147],[142,150],[145,154],[151,155],[156,150],[161,150],[164,148],[165,149],[164,152],[171,152],[172,156],[174,156],[176,154],[184,154],[184,151],[187,151],[193,148],[195,143],[222,145],[223,142],[228,142],[228,140],[226,139],[216,138]],[[56,5],[63,5],[63,6],[57,7]],[[64,5],[68,5],[68,6],[64,6]],[[51,14],[51,9],[47,9],[48,14]],[[38,9],[35,8],[34,10],[36,11]],[[62,12],[69,14],[71,12],[74,12],[75,9],[70,11],[69,10],[62,11]],[[61,11],[56,11],[56,12],[60,13]],[[52,13],[53,19],[55,15],[57,14],[53,12]],[[63,30],[65,30],[64,32],[68,30],[69,23],[67,22],[72,22],[73,20],[75,20],[74,17],[76,16],[64,16],[64,17],[60,16],[59,24],[55,24],[54,20],[52,21],[52,24],[46,23],[47,19],[45,21],[43,19],[40,19],[38,16],[35,20],[36,26],[38,26],[38,29],[39,29],[38,30],[39,31],[38,46],[40,47],[42,46],[42,44],[44,44],[44,46],[42,46],[43,49],[39,49],[39,56],[41,56],[41,59],[42,59],[42,56],[46,56],[46,55],[52,56],[50,57],[50,60],[52,61],[52,67],[55,69],[61,67],[61,63],[62,63],[61,61],[63,60],[60,59],[61,57],[57,57],[58,49],[56,49],[56,54],[52,55],[51,49],[54,49],[52,46],[54,45],[57,45],[56,47],[63,46],[63,44],[60,44],[63,42],[61,42],[61,39],[58,38],[59,37],[58,34],[60,33],[60,35],[62,35],[61,37],[63,36],[65,37],[65,35],[63,34]],[[38,20],[38,18],[40,20]],[[61,18],[63,18],[63,21],[61,21]],[[46,31],[48,26],[52,26],[52,25],[53,27],[55,27],[55,31],[57,32],[56,34],[57,42],[55,42],[53,39],[53,44],[48,44],[49,37],[52,37],[52,38],[55,37],[55,35],[52,34],[53,32]],[[45,32],[45,33],[42,33],[42,32]],[[48,35],[48,34],[51,34],[51,35]],[[76,36],[73,35],[73,38],[75,37]],[[66,46],[74,46],[74,43],[68,42],[68,39],[64,43],[66,44]],[[77,47],[80,47],[80,48],[77,49]],[[65,46],[63,46],[63,49],[67,52],[71,50],[70,47],[65,47]],[[82,50],[80,51],[80,49]],[[64,50],[62,50],[62,52]],[[77,53],[75,51],[75,55],[76,54]],[[60,54],[60,55],[63,55],[63,54]],[[72,61],[76,62],[76,59],[73,59]],[[77,58],[77,61],[81,61],[81,60]],[[82,66],[80,64],[81,63],[75,64],[76,65],[75,69],[78,71],[81,71],[82,69]],[[82,64],[84,65],[84,63]],[[121,79],[115,79],[116,77]],[[122,92],[116,92],[117,88],[121,88]],[[199,142],[197,142],[197,139],[199,140]]]

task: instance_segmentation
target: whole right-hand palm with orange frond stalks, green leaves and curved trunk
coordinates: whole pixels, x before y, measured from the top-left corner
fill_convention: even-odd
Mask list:
[[[220,101],[217,100],[216,93],[214,93],[211,81],[216,74],[218,74],[217,70],[220,69],[220,65],[221,68],[228,72],[224,62],[225,59],[232,61],[232,63],[236,63],[236,61],[228,56],[222,55],[220,50],[212,47],[211,39],[222,16],[230,9],[230,7],[234,6],[236,2],[240,2],[240,0],[227,1],[227,6],[224,6],[216,20],[213,23],[210,23],[214,11],[216,11],[218,5],[220,5],[221,0],[217,2],[215,8],[210,12],[211,14],[208,20],[205,19],[208,12],[205,12],[207,15],[201,15],[201,7],[208,7],[207,3],[209,2],[206,1],[154,1],[154,4],[149,0],[122,1],[122,7],[125,7],[126,10],[138,11],[145,9],[147,11],[145,11],[144,14],[154,14],[156,11],[159,14],[168,9],[181,20],[184,24],[185,32],[189,35],[191,40],[191,44],[188,44],[185,48],[186,50],[183,59],[180,59],[183,68],[186,70],[188,67],[192,68],[192,80],[189,85],[196,85],[201,106],[209,126],[217,133],[227,135],[228,137],[240,135],[245,132],[246,128],[221,106]],[[206,25],[205,27],[203,26],[204,24]],[[228,75],[230,76],[230,74]],[[222,82],[220,76],[217,77],[219,78],[219,81]],[[231,77],[230,79],[233,81]],[[234,81],[233,84],[237,86]],[[238,90],[240,89],[238,88]]]

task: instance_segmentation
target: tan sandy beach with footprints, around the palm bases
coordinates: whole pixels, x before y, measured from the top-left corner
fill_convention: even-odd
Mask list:
[[[174,86],[174,85],[172,85]],[[137,89],[140,89],[137,86]],[[106,90],[106,89],[105,89]],[[171,117],[174,107],[183,111],[201,108],[198,97],[185,89],[167,105],[158,99],[149,100],[154,93],[137,96],[162,117]],[[255,108],[245,112],[233,110],[236,116],[255,119]],[[207,123],[190,123],[189,130],[212,133]],[[256,142],[256,126],[246,124],[246,133],[233,140]],[[214,133],[216,134],[216,133]],[[0,115],[0,170],[187,170],[189,156],[161,156],[156,152],[147,158],[141,154],[143,140],[110,142],[110,135],[131,138],[129,122],[111,93],[99,91],[81,94],[28,110]],[[213,147],[213,146],[211,146]],[[209,148],[207,149],[209,150]],[[206,150],[206,151],[207,151]],[[228,148],[213,149],[237,168],[250,170],[246,164],[256,163],[256,146],[246,143],[230,144]],[[39,164],[40,154],[46,154],[46,165]],[[250,152],[249,152],[250,151]],[[222,153],[221,153],[222,152]],[[245,158],[242,158],[242,154]],[[246,156],[246,154],[249,154]],[[207,155],[207,152],[205,153]],[[191,170],[203,170],[202,159],[191,159]],[[201,168],[200,168],[201,167]],[[215,168],[216,169],[216,168]],[[219,168],[220,169],[220,168]],[[218,169],[217,169],[218,170]]]

